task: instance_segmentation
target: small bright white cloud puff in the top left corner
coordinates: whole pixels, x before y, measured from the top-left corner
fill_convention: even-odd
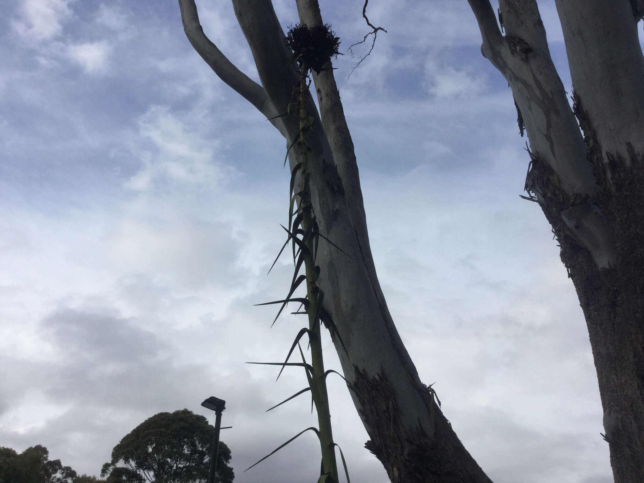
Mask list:
[[[28,43],[52,39],[60,35],[62,23],[71,17],[69,4],[70,0],[23,0],[12,26]]]

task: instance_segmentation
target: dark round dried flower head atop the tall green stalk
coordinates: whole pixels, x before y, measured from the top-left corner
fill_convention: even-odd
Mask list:
[[[315,27],[296,24],[289,29],[284,42],[293,51],[292,60],[297,61],[300,68],[310,68],[318,74],[330,59],[341,55],[337,51],[340,38],[329,24]]]

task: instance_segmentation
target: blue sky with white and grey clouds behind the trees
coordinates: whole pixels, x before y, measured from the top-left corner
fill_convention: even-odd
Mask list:
[[[270,323],[292,265],[278,131],[185,38],[174,0],[3,0],[0,18],[0,446],[43,444],[99,475],[158,412],[227,401],[238,483],[316,478],[306,385]],[[571,91],[553,1],[540,1]],[[258,79],[232,5],[198,0],[205,33]],[[285,28],[294,1],[275,0]],[[538,205],[512,96],[480,54],[465,0],[321,1],[384,295],[419,375],[497,483],[608,483],[582,310]],[[493,5],[495,10],[497,5]],[[364,55],[364,46],[354,49]],[[325,363],[339,370],[329,337]],[[354,482],[385,483],[346,386],[329,379]],[[319,473],[317,473],[319,474]]]

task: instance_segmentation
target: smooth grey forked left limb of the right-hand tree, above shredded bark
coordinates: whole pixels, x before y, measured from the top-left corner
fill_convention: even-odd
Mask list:
[[[512,88],[533,153],[554,170],[570,196],[592,196],[597,187],[582,133],[550,57],[536,2],[500,0],[505,37],[489,0],[468,2],[483,39],[481,52]]]

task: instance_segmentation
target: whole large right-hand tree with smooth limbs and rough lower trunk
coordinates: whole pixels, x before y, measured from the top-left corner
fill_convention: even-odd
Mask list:
[[[499,1],[505,37],[488,0],[469,4],[482,53],[509,82],[526,124],[532,148],[526,189],[551,223],[580,299],[615,481],[643,482],[644,58],[636,31],[642,2],[556,0],[572,110],[536,1]]]

